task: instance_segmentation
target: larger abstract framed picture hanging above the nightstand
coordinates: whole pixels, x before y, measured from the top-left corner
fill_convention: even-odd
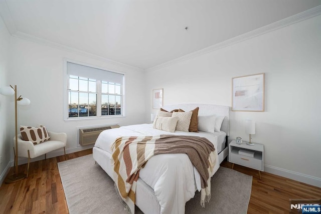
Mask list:
[[[232,111],[264,111],[264,76],[232,78]]]

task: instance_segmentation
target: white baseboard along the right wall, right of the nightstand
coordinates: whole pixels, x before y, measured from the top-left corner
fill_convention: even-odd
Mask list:
[[[310,175],[298,173],[295,171],[290,171],[287,169],[278,168],[275,166],[264,165],[264,171],[271,174],[276,174],[282,177],[290,178],[292,180],[297,180],[299,182],[307,183],[313,186],[321,187],[321,178],[313,177]]]

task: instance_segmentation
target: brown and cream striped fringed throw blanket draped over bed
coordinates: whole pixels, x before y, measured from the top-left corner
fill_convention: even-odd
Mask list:
[[[204,137],[157,135],[119,137],[112,145],[114,180],[131,213],[135,208],[136,181],[140,168],[157,154],[187,154],[201,176],[201,205],[210,200],[210,174],[216,162],[213,144]]]

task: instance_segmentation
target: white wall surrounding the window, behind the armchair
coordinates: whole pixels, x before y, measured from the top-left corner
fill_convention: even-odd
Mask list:
[[[125,73],[126,116],[114,119],[64,121],[63,81],[66,81],[63,79],[64,58]],[[144,73],[141,70],[117,65],[117,63],[90,59],[62,49],[12,37],[10,71],[10,83],[18,86],[19,95],[31,100],[29,106],[19,106],[19,125],[36,126],[42,124],[50,131],[66,132],[68,136],[67,153],[92,147],[92,145],[77,147],[77,127],[104,124],[122,126],[144,121]],[[12,127],[14,127],[14,123],[12,123]],[[12,133],[12,137],[13,135],[14,133]],[[47,156],[58,154],[63,154],[63,149]],[[25,160],[20,163],[23,162]]]

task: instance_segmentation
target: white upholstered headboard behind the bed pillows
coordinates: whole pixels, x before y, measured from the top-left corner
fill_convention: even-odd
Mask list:
[[[221,130],[230,136],[230,106],[211,105],[211,104],[175,104],[163,106],[163,109],[172,111],[173,109],[183,109],[184,111],[191,111],[199,107],[199,115],[222,115],[225,116]]]

